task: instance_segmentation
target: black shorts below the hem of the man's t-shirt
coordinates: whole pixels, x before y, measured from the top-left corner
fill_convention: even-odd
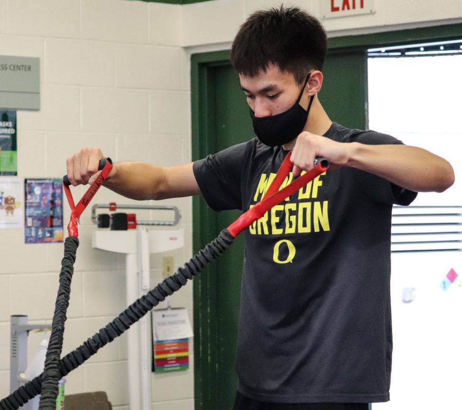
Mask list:
[[[233,410],[369,410],[368,403],[268,403],[236,394]]]

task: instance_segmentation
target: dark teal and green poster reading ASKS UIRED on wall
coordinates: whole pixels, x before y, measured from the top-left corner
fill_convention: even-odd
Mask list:
[[[0,175],[17,175],[16,111],[0,110]]]

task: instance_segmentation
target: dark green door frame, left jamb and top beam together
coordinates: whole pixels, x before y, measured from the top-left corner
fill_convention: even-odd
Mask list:
[[[459,40],[462,24],[422,27],[372,34],[349,35],[329,39],[328,55],[348,53],[369,48],[408,45],[420,42]],[[211,69],[217,65],[230,65],[230,50],[191,55],[191,146],[192,160],[204,158],[215,152],[213,82]],[[365,81],[363,94],[367,91]],[[367,107],[364,107],[366,110]],[[361,113],[367,118],[367,113]],[[201,197],[193,198],[192,246],[195,251],[215,238],[218,227],[215,212],[209,209]],[[194,377],[195,409],[216,410],[217,396],[217,292],[218,272],[213,266],[195,278],[194,294]]]

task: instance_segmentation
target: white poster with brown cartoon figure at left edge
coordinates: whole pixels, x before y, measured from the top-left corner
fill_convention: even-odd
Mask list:
[[[0,177],[0,229],[24,226],[24,180]]]

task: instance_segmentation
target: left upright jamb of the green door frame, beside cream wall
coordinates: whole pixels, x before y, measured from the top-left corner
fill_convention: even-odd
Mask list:
[[[191,133],[192,160],[215,152],[214,138],[214,99],[211,97],[208,68],[229,64],[230,51],[216,51],[191,55]],[[197,252],[214,239],[217,221],[211,215],[202,197],[192,198],[192,243]],[[195,409],[215,410],[218,407],[215,386],[217,381],[218,340],[216,305],[217,290],[215,275],[210,272],[214,266],[207,267],[192,282],[194,292],[193,317],[194,332],[194,396]],[[206,324],[206,325],[205,325]],[[196,326],[197,325],[197,326]],[[205,325],[205,326],[204,326]]]

